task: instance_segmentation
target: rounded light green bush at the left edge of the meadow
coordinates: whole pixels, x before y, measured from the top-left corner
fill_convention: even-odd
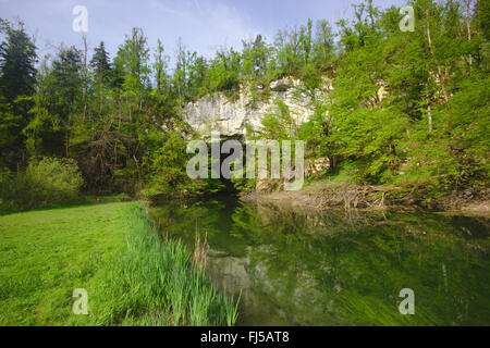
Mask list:
[[[0,211],[29,210],[72,202],[78,198],[83,178],[72,159],[44,158],[16,175],[0,175]]]

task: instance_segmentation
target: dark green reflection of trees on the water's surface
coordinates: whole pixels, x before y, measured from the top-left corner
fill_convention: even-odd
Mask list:
[[[279,297],[275,302],[287,306],[294,294],[320,289],[317,304],[331,316],[320,312],[310,324],[342,318],[358,324],[488,323],[480,310],[490,308],[488,248],[476,249],[448,222],[438,215],[347,216],[243,206],[233,213],[232,231],[260,246],[250,253],[249,272],[266,266],[268,282],[281,284],[281,294],[270,294]],[[399,314],[404,287],[415,290],[420,315]]]

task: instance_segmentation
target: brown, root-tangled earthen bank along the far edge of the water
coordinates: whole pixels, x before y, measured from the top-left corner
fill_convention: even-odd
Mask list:
[[[243,201],[268,202],[308,209],[430,209],[446,213],[490,216],[490,189],[465,190],[427,198],[421,188],[356,185],[351,182],[319,181],[297,191],[242,192]]]

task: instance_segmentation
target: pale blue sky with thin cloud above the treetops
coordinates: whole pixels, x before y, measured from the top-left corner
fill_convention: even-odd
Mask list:
[[[279,28],[328,20],[332,25],[351,17],[360,0],[0,0],[0,17],[20,18],[35,36],[38,55],[52,53],[61,42],[89,50],[103,40],[111,58],[133,27],[143,28],[151,49],[160,38],[166,53],[174,55],[176,41],[205,57],[222,46],[242,48],[242,39],[261,34],[273,41]],[[401,7],[406,0],[375,0],[376,5]],[[88,32],[76,33],[73,9],[84,5]]]

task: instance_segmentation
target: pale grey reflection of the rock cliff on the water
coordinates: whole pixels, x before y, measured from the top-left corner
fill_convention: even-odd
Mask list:
[[[269,250],[270,251],[270,250]],[[261,250],[266,252],[266,250]],[[212,252],[211,252],[212,253]],[[270,276],[267,262],[250,265],[247,258],[211,258],[208,273],[213,284],[235,298],[241,294],[238,323],[262,325],[318,325],[332,310],[308,273]],[[293,272],[294,273],[294,272]]]

